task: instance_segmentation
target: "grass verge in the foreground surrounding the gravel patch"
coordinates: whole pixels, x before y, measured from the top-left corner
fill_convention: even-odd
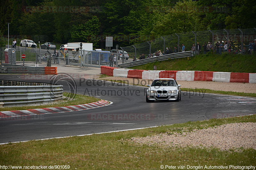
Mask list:
[[[177,166],[185,166],[187,169],[187,165],[255,166],[256,150],[254,149],[240,148],[239,152],[235,152],[189,146],[161,147],[139,145],[127,140],[131,137],[146,137],[184,129],[212,128],[235,122],[256,122],[256,116],[210,119],[83,137],[4,144],[0,145],[0,165],[22,167],[66,165],[69,169],[81,170],[160,169],[161,165],[176,166],[175,169],[178,169]]]

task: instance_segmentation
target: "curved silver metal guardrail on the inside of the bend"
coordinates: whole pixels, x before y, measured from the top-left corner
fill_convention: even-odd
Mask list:
[[[25,106],[62,99],[63,85],[0,80],[0,107]]]

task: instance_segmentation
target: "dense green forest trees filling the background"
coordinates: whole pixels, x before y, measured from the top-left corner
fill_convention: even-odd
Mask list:
[[[27,10],[38,7],[79,9],[68,12]],[[11,35],[60,44],[79,40],[99,44],[98,35],[118,36],[121,39],[114,39],[113,45],[125,47],[173,33],[254,28],[255,11],[256,4],[249,0],[5,0],[0,5],[0,30],[7,34],[6,22],[10,22]],[[95,17],[99,20],[88,25]],[[208,42],[211,35],[201,39],[204,40],[200,42]],[[166,45],[177,44],[171,41],[166,41]],[[186,39],[181,41],[185,43]],[[190,48],[192,44],[184,45]],[[163,47],[154,47],[154,50],[157,48]]]

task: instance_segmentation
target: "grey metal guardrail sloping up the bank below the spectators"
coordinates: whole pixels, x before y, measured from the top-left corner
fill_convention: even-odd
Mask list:
[[[192,56],[194,56],[193,51],[186,51],[186,52],[181,52],[181,53],[173,53],[173,54],[161,55],[161,56],[157,56],[157,57],[146,58],[143,60],[137,60],[137,61],[133,61],[130,63],[118,64],[118,67],[128,68],[128,67],[146,64],[146,63],[154,63],[156,61],[164,61],[164,60],[168,60],[168,59],[192,57]]]

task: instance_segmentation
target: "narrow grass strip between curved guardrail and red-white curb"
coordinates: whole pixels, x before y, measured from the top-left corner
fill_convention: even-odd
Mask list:
[[[67,97],[69,93],[63,92],[63,96]],[[47,103],[47,104],[42,104],[42,105],[30,105],[30,106],[22,106],[22,107],[2,107],[0,108],[0,112],[3,111],[11,111],[11,110],[27,110],[27,109],[39,109],[39,108],[46,108],[46,107],[63,107],[63,106],[72,106],[72,105],[79,105],[79,104],[87,104],[87,103],[92,103],[99,101],[100,99],[90,97],[90,96],[85,96],[81,94],[76,94],[74,99],[68,99],[64,98],[63,100],[60,101],[55,101],[52,103]]]

